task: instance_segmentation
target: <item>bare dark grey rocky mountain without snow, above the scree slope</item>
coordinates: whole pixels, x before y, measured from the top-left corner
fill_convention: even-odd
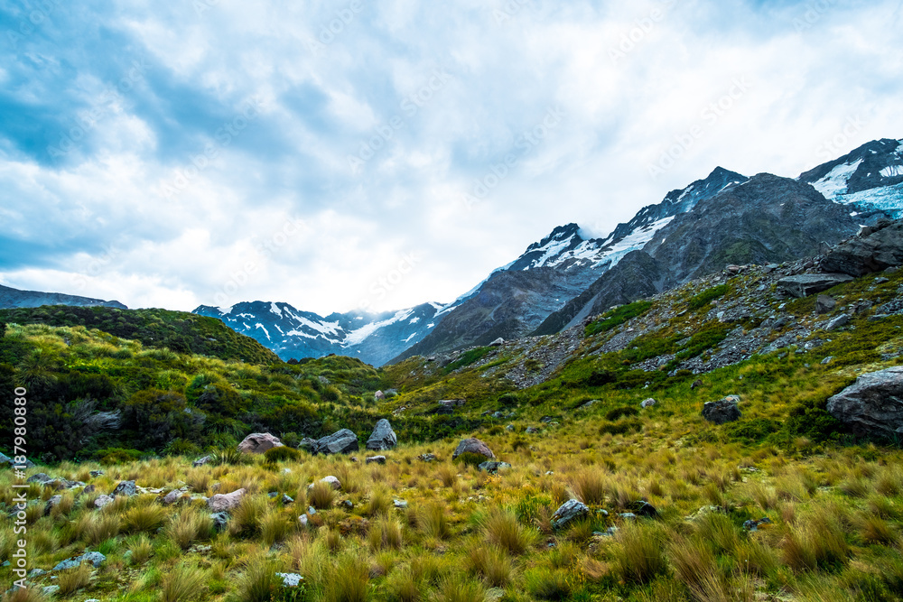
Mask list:
[[[677,216],[641,250],[561,310],[535,335],[575,326],[613,305],[672,289],[728,264],[781,264],[819,255],[859,229],[847,207],[802,181],[768,173],[722,190]]]

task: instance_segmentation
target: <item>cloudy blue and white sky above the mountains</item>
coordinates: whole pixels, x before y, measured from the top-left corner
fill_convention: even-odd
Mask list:
[[[903,138],[901,0],[0,0],[0,284],[452,301],[716,166]]]

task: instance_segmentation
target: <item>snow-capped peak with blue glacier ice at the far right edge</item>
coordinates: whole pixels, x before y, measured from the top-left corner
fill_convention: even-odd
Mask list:
[[[880,210],[903,217],[903,140],[863,144],[798,180],[812,184],[826,199],[852,206],[857,214]]]

